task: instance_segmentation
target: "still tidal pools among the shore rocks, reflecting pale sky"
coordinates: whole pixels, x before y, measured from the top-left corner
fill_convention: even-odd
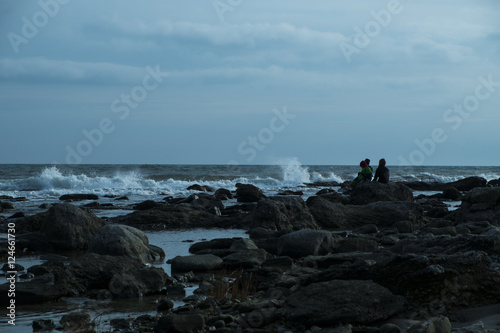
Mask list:
[[[166,263],[168,259],[176,256],[185,256],[189,254],[189,247],[196,242],[211,240],[215,238],[248,238],[244,230],[181,230],[181,231],[158,231],[146,233],[149,242],[161,247],[165,253],[164,261],[154,264],[162,267],[165,272],[171,274],[170,265]],[[17,263],[26,269],[42,263],[39,256],[29,256],[18,258]],[[192,295],[196,287],[186,288],[186,294]],[[0,320],[0,331],[2,333],[31,333],[33,320],[52,319],[58,323],[61,317],[73,311],[87,311],[90,317],[98,325],[97,331],[109,331],[109,322],[114,318],[136,318],[141,315],[156,315],[157,303],[165,296],[155,295],[140,299],[128,300],[105,300],[96,301],[84,297],[63,298],[57,302],[44,304],[16,304],[16,325],[7,324],[8,317],[2,315]],[[182,302],[174,302],[174,306],[180,306]]]

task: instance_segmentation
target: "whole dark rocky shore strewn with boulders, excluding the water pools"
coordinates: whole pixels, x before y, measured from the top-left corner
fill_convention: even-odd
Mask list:
[[[146,201],[110,219],[78,205],[81,197],[61,198],[0,221],[2,232],[15,223],[19,253],[46,259],[19,269],[16,302],[158,296],[155,316],[114,319],[113,332],[500,331],[498,182],[342,185],[309,184],[322,189],[306,200],[249,184],[197,185],[189,197]],[[450,210],[452,201],[461,204]],[[169,261],[171,276],[151,266],[165,253],[144,231],[189,228],[239,228],[249,238],[194,243],[191,255]],[[188,297],[186,283],[198,286]],[[176,299],[184,305],[174,307]],[[480,321],[488,311],[497,323]],[[81,312],[33,328],[93,331]]]

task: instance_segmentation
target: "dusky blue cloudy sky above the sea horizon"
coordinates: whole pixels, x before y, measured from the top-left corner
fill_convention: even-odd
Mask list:
[[[498,17],[497,0],[1,0],[0,163],[500,165]]]

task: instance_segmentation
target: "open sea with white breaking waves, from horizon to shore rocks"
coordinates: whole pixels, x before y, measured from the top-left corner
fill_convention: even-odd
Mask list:
[[[373,166],[374,169],[376,165]],[[392,181],[451,182],[469,176],[487,180],[500,178],[500,167],[390,166]],[[0,164],[0,196],[24,197],[14,202],[15,210],[0,213],[8,217],[14,212],[31,214],[43,203],[59,202],[70,193],[97,194],[100,203],[112,204],[97,215],[121,215],[124,209],[144,200],[162,200],[166,196],[184,197],[193,191],[193,184],[209,185],[214,189],[234,190],[237,183],[253,184],[267,195],[281,190],[302,190],[313,195],[320,187],[306,187],[314,182],[339,182],[353,179],[356,165],[302,165],[290,158],[279,165],[32,165]],[[116,197],[127,196],[128,201]],[[84,203],[82,203],[84,204]]]

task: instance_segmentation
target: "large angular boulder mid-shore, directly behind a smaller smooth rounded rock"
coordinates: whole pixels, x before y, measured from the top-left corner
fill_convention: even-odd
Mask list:
[[[257,203],[247,219],[250,228],[270,230],[319,229],[300,197],[271,197]]]

